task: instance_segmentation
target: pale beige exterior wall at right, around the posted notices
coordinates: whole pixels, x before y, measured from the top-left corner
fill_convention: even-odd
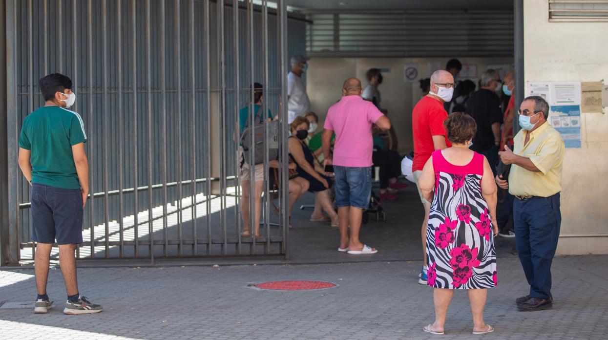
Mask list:
[[[548,1],[524,4],[527,82],[608,82],[608,23],[550,23]],[[581,113],[581,133],[565,152],[558,253],[608,253],[608,115]]]

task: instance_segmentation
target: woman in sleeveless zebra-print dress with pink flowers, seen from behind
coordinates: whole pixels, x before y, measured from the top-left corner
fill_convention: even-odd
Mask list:
[[[494,328],[483,321],[487,290],[497,285],[494,235],[496,183],[486,158],[469,150],[477,127],[471,116],[455,113],[444,122],[452,147],[435,151],[419,184],[432,202],[426,234],[428,285],[434,288],[435,322],[424,331],[443,334],[455,289],[469,295],[473,334]]]

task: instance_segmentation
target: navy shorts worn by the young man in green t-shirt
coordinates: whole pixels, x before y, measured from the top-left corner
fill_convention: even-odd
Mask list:
[[[75,245],[82,243],[82,194],[32,183],[32,241]]]

